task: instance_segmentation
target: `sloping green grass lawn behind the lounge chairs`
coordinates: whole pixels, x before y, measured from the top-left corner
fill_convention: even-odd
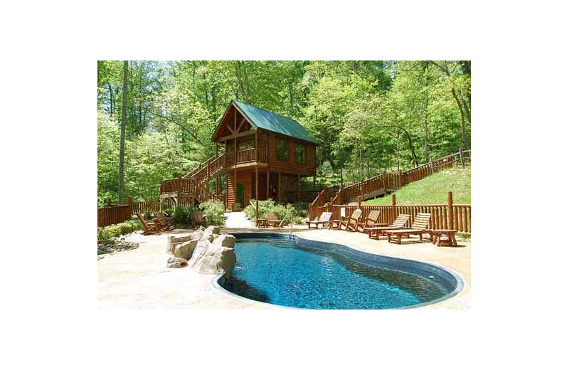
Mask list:
[[[453,203],[470,204],[470,166],[427,176],[403,186],[395,196],[398,204],[440,204],[447,203],[449,191],[452,191]],[[362,204],[391,204],[391,197],[370,199]]]

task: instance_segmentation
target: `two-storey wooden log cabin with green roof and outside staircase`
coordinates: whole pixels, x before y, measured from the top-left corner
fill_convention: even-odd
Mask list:
[[[231,100],[211,140],[216,155],[179,179],[162,181],[161,199],[205,201],[220,199],[219,174],[227,176],[223,196],[229,210],[248,206],[250,199],[280,202],[312,201],[317,195],[316,147],[299,122],[282,115]],[[312,191],[300,189],[301,177],[312,176]],[[216,179],[216,190],[204,186]],[[220,199],[221,200],[221,199]]]

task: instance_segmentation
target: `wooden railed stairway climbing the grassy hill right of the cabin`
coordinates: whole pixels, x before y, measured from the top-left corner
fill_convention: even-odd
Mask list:
[[[470,162],[470,150],[461,151],[447,155],[429,163],[421,164],[408,171],[393,174],[379,174],[362,180],[355,184],[341,187],[339,191],[323,190],[317,198],[310,204],[309,218],[319,217],[324,211],[331,211],[334,205],[355,203],[367,199],[392,193],[401,186],[405,186],[420,179],[424,179],[430,174],[435,174],[442,169],[449,169],[454,163]]]

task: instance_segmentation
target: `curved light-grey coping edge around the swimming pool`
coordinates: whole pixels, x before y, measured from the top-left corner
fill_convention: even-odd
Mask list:
[[[235,232],[233,232],[232,235],[233,235],[233,234],[243,234],[243,235],[249,235],[249,236],[251,236],[251,235],[259,235],[259,236],[262,236],[262,235],[265,235],[265,236],[266,236],[266,235],[280,235],[280,236],[286,235],[286,233],[274,233],[274,232],[260,232],[260,233],[235,233]],[[443,301],[445,301],[445,300],[449,300],[450,298],[452,298],[452,297],[458,295],[460,292],[462,292],[462,290],[464,290],[464,279],[462,278],[462,276],[461,276],[459,273],[457,273],[456,271],[454,271],[454,270],[452,270],[452,269],[450,269],[450,268],[447,268],[447,267],[445,267],[445,266],[437,265],[437,264],[435,264],[435,263],[425,262],[425,261],[422,261],[422,260],[414,260],[414,259],[411,259],[411,258],[400,258],[400,257],[393,257],[393,256],[390,256],[390,255],[381,255],[381,254],[375,254],[375,253],[367,253],[367,252],[363,252],[362,250],[357,250],[356,248],[352,248],[352,247],[350,247],[349,245],[345,245],[345,244],[330,243],[330,242],[322,241],[322,240],[313,240],[313,239],[302,238],[302,236],[298,236],[296,233],[292,233],[292,235],[293,235],[295,238],[299,238],[299,239],[301,239],[301,240],[307,240],[307,241],[310,241],[310,242],[318,242],[318,243],[326,243],[326,244],[329,244],[329,245],[336,245],[336,246],[338,246],[338,247],[340,247],[340,248],[347,248],[348,250],[351,251],[351,253],[354,253],[355,255],[358,255],[358,257],[361,257],[361,258],[366,258],[366,257],[367,257],[367,258],[384,258],[385,260],[397,260],[398,262],[403,262],[403,263],[405,263],[405,262],[420,263],[420,264],[423,264],[423,265],[430,266],[431,268],[440,269],[440,270],[442,270],[443,272],[448,273],[449,275],[451,275],[452,277],[454,277],[454,280],[456,280],[456,286],[454,287],[454,290],[452,290],[452,292],[447,293],[446,295],[443,295],[443,296],[440,297],[440,298],[437,298],[436,300],[430,300],[430,301],[428,301],[428,302],[419,303],[419,304],[417,304],[417,305],[410,305],[410,306],[403,306],[403,307],[393,307],[393,308],[383,309],[383,310],[410,310],[410,309],[414,309],[414,308],[420,308],[420,307],[435,305],[435,304],[440,303],[440,302],[443,302]],[[364,264],[366,264],[365,262],[361,262],[360,260],[354,260],[353,258],[351,258],[350,255],[345,255],[345,254],[343,254],[343,253],[341,253],[341,252],[339,252],[339,251],[335,251],[335,253],[339,253],[340,255],[343,255],[345,258],[349,258],[349,259],[351,259],[351,260],[353,260],[353,261],[355,261],[355,262],[357,262],[357,263],[364,263]],[[371,262],[371,261],[370,261],[370,262]],[[373,263],[368,263],[368,265],[378,267],[377,265],[374,265]],[[393,270],[393,269],[392,269],[392,270]],[[410,272],[408,272],[408,271],[403,271],[403,272],[405,272],[405,273],[410,273]],[[302,308],[302,307],[291,307],[291,306],[283,306],[283,305],[274,305],[274,304],[272,304],[272,303],[260,302],[260,301],[257,301],[257,300],[252,300],[252,299],[250,299],[250,298],[242,297],[242,296],[240,296],[240,295],[236,295],[235,293],[226,290],[224,287],[222,287],[222,286],[219,284],[219,280],[221,280],[221,278],[224,278],[224,275],[225,275],[225,274],[218,274],[218,275],[216,275],[215,277],[213,277],[213,280],[212,280],[212,285],[213,285],[213,287],[215,287],[216,290],[219,290],[220,292],[223,292],[223,293],[226,294],[226,295],[230,295],[230,296],[233,296],[233,297],[235,297],[235,298],[238,298],[239,300],[245,300],[245,301],[248,301],[248,302],[251,302],[251,303],[255,303],[255,304],[257,304],[257,305],[265,305],[265,306],[267,306],[267,307],[280,308],[280,309],[285,309],[285,310],[286,310],[286,309],[288,309],[288,310],[316,310],[316,309],[312,309],[312,308]],[[415,273],[414,275],[418,275],[418,274]],[[419,275],[419,276],[424,277],[424,276],[422,276],[422,275]],[[426,277],[424,277],[424,278],[426,278]],[[364,309],[353,309],[353,310],[364,310]],[[377,310],[382,310],[382,309],[377,309]]]

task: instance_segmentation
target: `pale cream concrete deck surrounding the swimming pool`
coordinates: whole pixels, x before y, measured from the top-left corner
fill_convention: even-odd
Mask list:
[[[97,305],[106,308],[141,309],[278,309],[263,303],[242,300],[213,287],[214,275],[201,275],[189,268],[166,268],[168,236],[188,233],[176,229],[161,235],[142,236],[133,233],[128,241],[139,243],[139,248],[105,255],[97,261]],[[277,233],[276,229],[222,228],[222,233]],[[289,233],[289,229],[282,231]],[[470,242],[458,247],[437,247],[432,243],[391,244],[387,240],[372,240],[363,233],[308,230],[294,226],[293,233],[301,238],[338,243],[366,253],[434,263],[453,270],[464,281],[458,295],[425,309],[470,308]],[[418,240],[418,239],[411,239]]]

